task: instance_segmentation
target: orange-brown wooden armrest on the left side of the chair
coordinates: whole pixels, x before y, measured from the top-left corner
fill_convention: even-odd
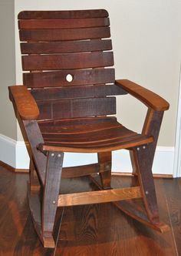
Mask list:
[[[10,99],[15,103],[22,120],[36,120],[39,116],[37,103],[25,86],[9,86]]]

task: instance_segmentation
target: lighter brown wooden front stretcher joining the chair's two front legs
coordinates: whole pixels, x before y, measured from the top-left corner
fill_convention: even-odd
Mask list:
[[[140,187],[126,187],[122,189],[98,190],[74,194],[60,194],[58,197],[58,207],[81,204],[99,204],[139,197],[142,197]]]

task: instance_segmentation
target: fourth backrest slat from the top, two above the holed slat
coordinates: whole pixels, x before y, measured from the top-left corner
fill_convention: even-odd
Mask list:
[[[93,39],[68,42],[21,42],[22,54],[92,52],[111,49],[112,43],[110,39]]]

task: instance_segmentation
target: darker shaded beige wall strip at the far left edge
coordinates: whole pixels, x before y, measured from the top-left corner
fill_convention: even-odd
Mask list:
[[[14,0],[0,1],[0,133],[17,138],[17,124],[8,86],[15,84],[15,8]]]

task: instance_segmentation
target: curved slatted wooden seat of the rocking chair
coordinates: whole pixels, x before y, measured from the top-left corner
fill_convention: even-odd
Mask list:
[[[40,150],[96,153],[153,142],[152,136],[128,130],[112,116],[48,120],[38,125],[44,138]]]

